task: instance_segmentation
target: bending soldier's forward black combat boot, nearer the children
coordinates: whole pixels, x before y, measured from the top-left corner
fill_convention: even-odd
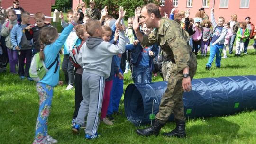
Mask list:
[[[137,129],[136,132],[138,135],[143,136],[150,136],[150,135],[158,135],[160,129],[165,125],[165,123],[160,122],[159,120],[155,119],[155,123],[153,126],[144,128],[144,129]]]

